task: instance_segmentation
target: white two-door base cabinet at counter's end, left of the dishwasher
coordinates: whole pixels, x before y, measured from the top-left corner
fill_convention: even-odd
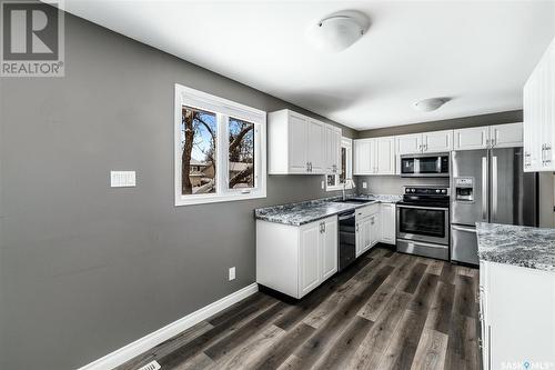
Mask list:
[[[256,282],[301,298],[337,271],[337,217],[300,227],[256,220]]]

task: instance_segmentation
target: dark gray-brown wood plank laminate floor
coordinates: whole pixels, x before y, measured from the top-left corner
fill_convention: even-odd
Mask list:
[[[258,292],[118,370],[480,369],[477,279],[375,248],[295,303]]]

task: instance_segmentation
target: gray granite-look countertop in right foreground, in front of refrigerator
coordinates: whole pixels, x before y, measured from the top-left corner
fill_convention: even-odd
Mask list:
[[[476,222],[481,260],[555,272],[555,229]]]

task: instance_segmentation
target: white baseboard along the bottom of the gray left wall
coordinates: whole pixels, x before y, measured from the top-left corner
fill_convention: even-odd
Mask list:
[[[168,339],[179,334],[185,329],[191,328],[192,326],[210,318],[213,314],[216,314],[220,311],[223,311],[228,307],[245,299],[246,297],[254,294],[259,291],[259,284],[252,283],[246,286],[245,288],[238,290],[234,293],[231,293],[209,306],[201,308],[194,312],[189,313],[184,318],[179,319],[165,327],[151,332],[142,337],[141,339],[135,340],[132,343],[129,343],[125,347],[122,347],[112,353],[109,353],[97,361],[93,361],[79,370],[105,370],[113,369],[119,367],[122,363],[131,360],[132,358],[154,348],[155,346],[167,341]]]

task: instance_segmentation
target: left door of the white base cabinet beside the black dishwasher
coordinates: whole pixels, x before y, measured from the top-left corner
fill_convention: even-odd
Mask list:
[[[306,294],[320,284],[320,222],[313,222],[301,229],[299,246],[300,263],[300,297]]]

